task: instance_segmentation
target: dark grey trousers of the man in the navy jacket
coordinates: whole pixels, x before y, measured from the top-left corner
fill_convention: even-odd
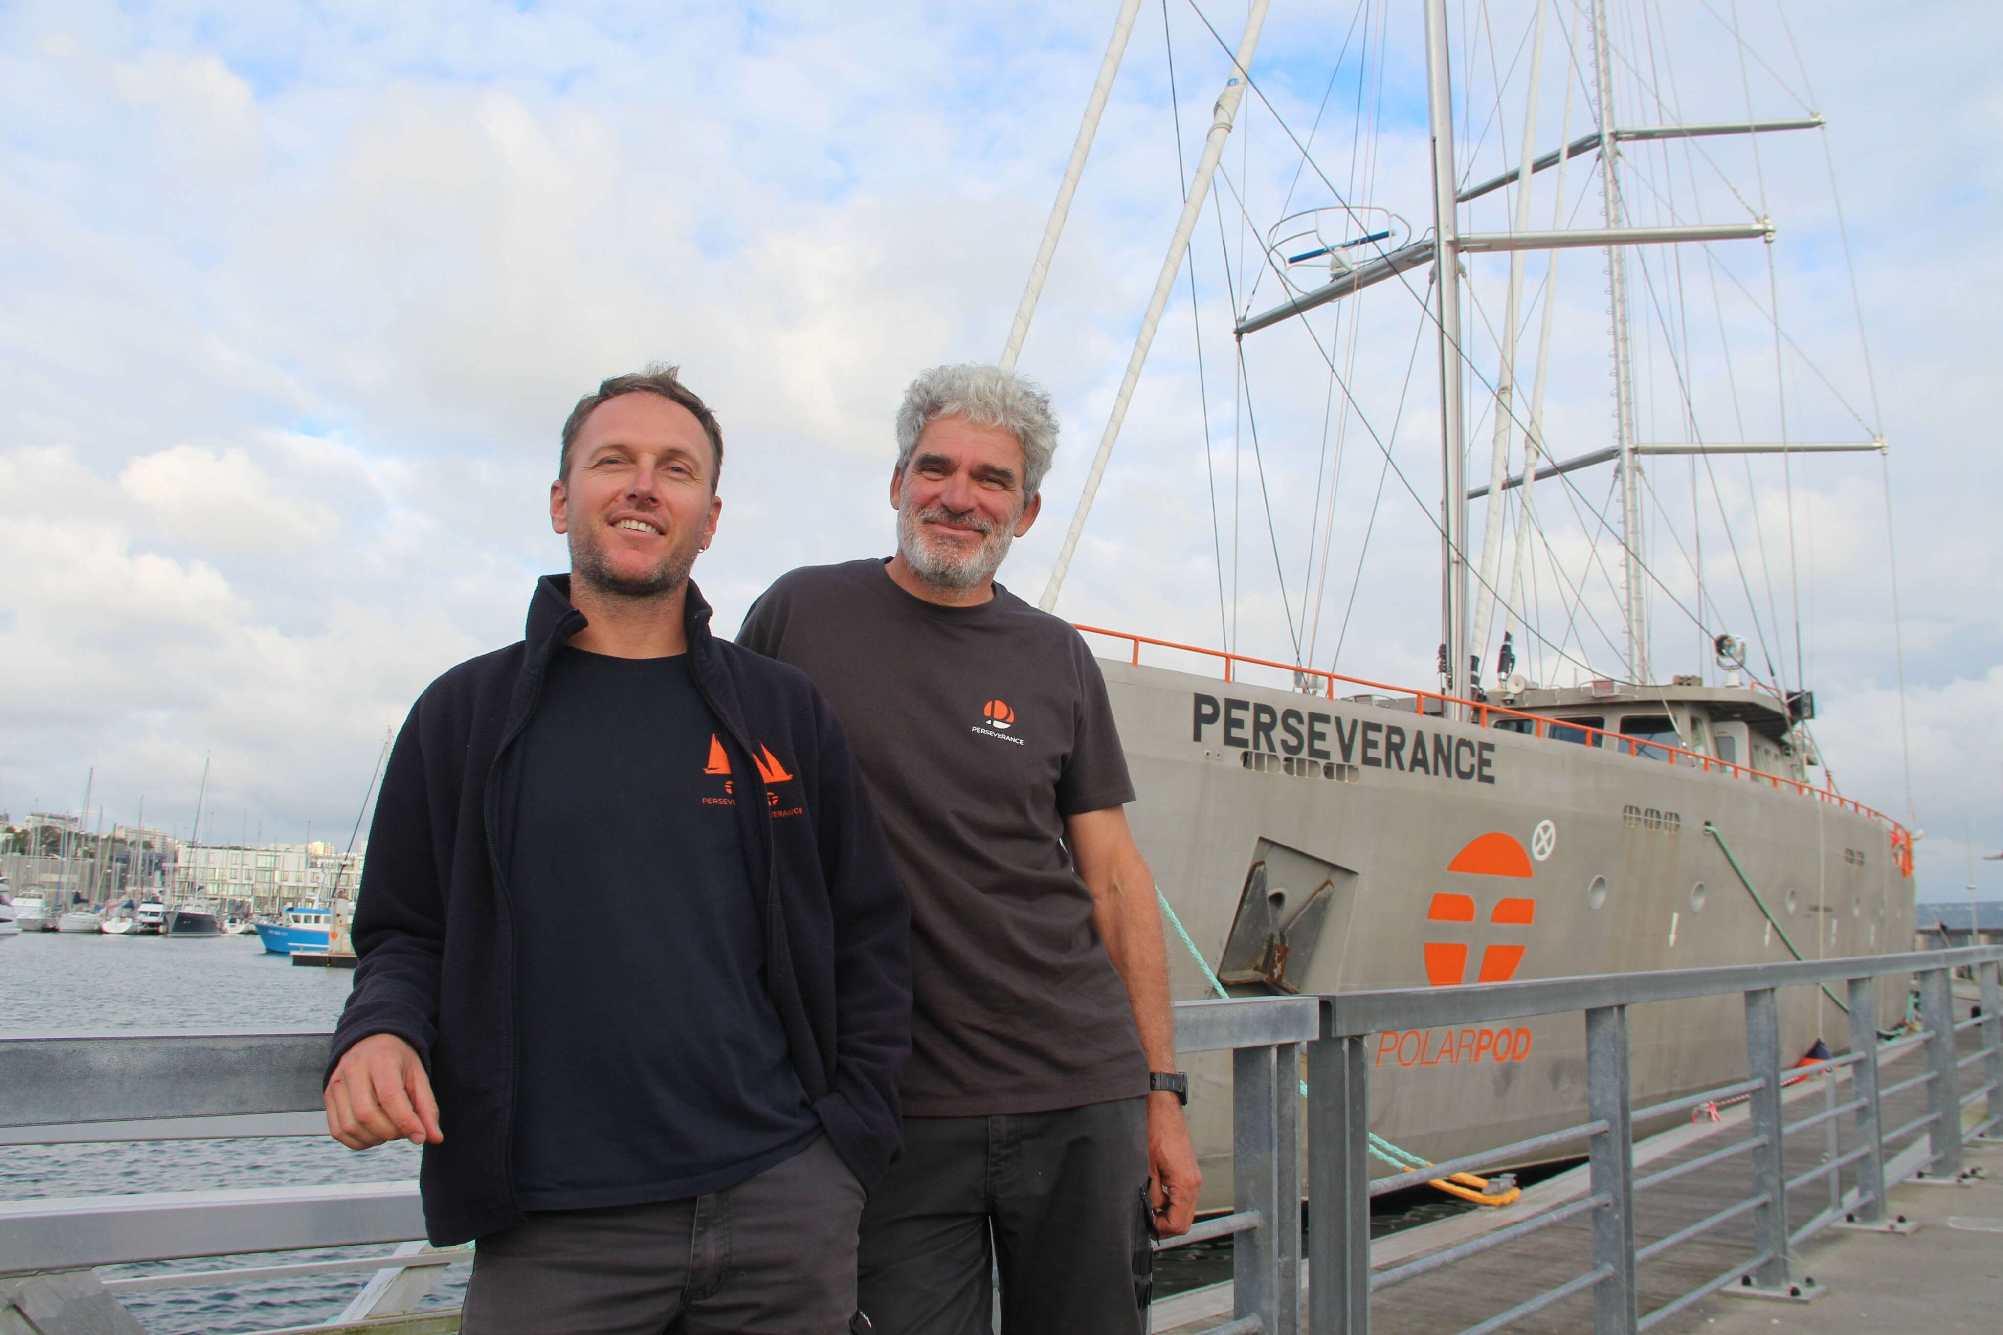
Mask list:
[[[863,1189],[827,1137],[685,1201],[537,1211],[473,1253],[463,1335],[845,1335]]]

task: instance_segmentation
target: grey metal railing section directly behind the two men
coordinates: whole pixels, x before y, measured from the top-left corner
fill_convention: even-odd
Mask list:
[[[1312,997],[1192,1001],[1176,1007],[1184,1053],[1232,1049],[1236,1207],[1162,1247],[1234,1235],[1242,1311],[1210,1335],[1284,1329],[1300,1311],[1302,1043],[1320,1033]],[[326,1033],[82,1035],[0,1039],[0,1145],[320,1137]],[[369,1171],[369,1159],[357,1159]],[[10,1307],[28,1329],[94,1321],[104,1335],[140,1335],[122,1293],[240,1285],[262,1279],[371,1273],[332,1321],[286,1331],[459,1327],[455,1311],[413,1309],[469,1249],[435,1251],[415,1181],[320,1187],[168,1191],[0,1203],[0,1331]],[[393,1253],[339,1261],[260,1263],[102,1279],[96,1267],[134,1261],[244,1257],[399,1243]],[[405,1317],[403,1321],[387,1321]],[[357,1325],[363,1323],[363,1325]]]

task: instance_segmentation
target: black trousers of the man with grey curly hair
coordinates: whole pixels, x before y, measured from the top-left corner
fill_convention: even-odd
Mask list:
[[[989,1335],[997,1267],[1006,1335],[1140,1335],[1146,1193],[1146,1099],[907,1117],[863,1207],[857,1303],[875,1335]]]

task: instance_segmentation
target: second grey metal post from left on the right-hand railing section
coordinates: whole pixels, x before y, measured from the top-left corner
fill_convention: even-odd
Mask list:
[[[1592,1195],[1592,1335],[1634,1335],[1634,1131],[1628,1095],[1626,1007],[1586,1011],[1588,1117],[1606,1123],[1586,1141]]]

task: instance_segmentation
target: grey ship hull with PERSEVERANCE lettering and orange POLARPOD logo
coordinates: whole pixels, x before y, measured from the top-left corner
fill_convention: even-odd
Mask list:
[[[1136,839],[1196,951],[1238,979],[1238,995],[1779,963],[1793,959],[1783,939],[1809,959],[1913,939],[1913,881],[1887,829],[1793,785],[1368,703],[1102,669],[1138,793]],[[1256,867],[1270,875],[1248,897]],[[1316,881],[1318,933],[1290,945],[1284,987],[1248,983],[1234,925],[1254,899],[1300,901]],[[1178,999],[1214,995],[1174,929],[1170,953]],[[1897,1023],[1905,997],[1881,993],[1879,1007],[1881,1025]],[[1815,1039],[1847,1047],[1849,1021],[1825,997],[1793,989],[1781,1011],[1789,1057]],[[1636,1107],[1743,1077],[1739,997],[1636,1007],[1628,1025]],[[1374,1035],[1368,1051],[1372,1129],[1428,1161],[1584,1119],[1580,1015]],[[1190,1069],[1204,1205],[1222,1207],[1230,1061],[1202,1055]]]

